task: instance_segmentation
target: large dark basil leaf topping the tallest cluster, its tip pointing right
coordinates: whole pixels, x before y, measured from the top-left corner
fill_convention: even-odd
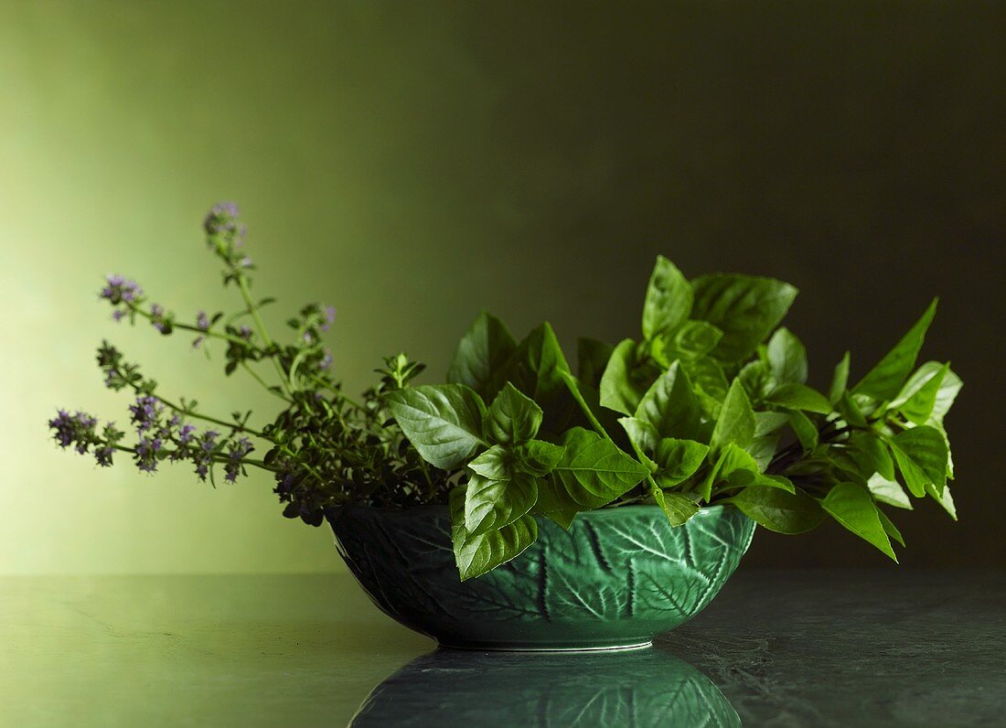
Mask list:
[[[713,355],[743,361],[786,316],[797,289],[782,281],[717,274],[692,281],[692,318],[723,332]]]

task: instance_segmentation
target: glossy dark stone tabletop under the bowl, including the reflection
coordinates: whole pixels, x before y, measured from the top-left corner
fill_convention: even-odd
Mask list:
[[[0,725],[1006,726],[1004,572],[741,566],[651,651],[434,647],[343,575],[3,577]]]

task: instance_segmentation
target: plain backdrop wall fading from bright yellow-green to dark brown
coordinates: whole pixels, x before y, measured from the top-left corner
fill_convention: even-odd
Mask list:
[[[103,337],[207,408],[252,396],[97,301],[119,271],[180,315],[223,304],[198,228],[220,199],[261,290],[338,306],[352,389],[399,349],[440,376],[481,308],[620,339],[658,252],[799,286],[819,381],[940,294],[962,523],[902,517],[903,563],[1006,564],[1004,25],[978,2],[0,0],[0,572],[341,568],[267,478],[212,491],[47,439],[59,405],[126,417]],[[836,527],[762,533],[748,562],[882,557]]]

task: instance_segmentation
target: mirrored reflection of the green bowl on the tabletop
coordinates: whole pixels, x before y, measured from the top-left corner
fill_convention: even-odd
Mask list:
[[[659,648],[600,653],[439,650],[367,696],[354,728],[739,726],[706,676]]]

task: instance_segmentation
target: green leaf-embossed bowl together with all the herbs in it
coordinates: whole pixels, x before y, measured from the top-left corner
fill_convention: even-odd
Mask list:
[[[547,323],[518,342],[484,313],[446,383],[415,384],[424,366],[397,354],[353,398],[324,344],[335,310],[309,304],[274,339],[236,207],[217,205],[204,228],[239,294],[233,313],[181,321],[117,276],[101,297],[117,321],[222,353],[224,373],[262,384],[279,414],[206,414],[106,342],[98,364],[135,398],[132,432],[60,410],[56,441],[102,467],[184,463],[214,484],[272,473],[284,515],[328,521],[378,606],[443,644],[647,644],[708,603],[756,523],[799,534],[834,518],[894,559],[903,542],[885,509],[930,497],[956,518],[944,417],[961,379],[916,368],[935,301],[857,383],[846,353],[821,392],[803,344],[777,328],[794,287],[688,281],[660,257],[641,338],[581,339],[575,374]]]

